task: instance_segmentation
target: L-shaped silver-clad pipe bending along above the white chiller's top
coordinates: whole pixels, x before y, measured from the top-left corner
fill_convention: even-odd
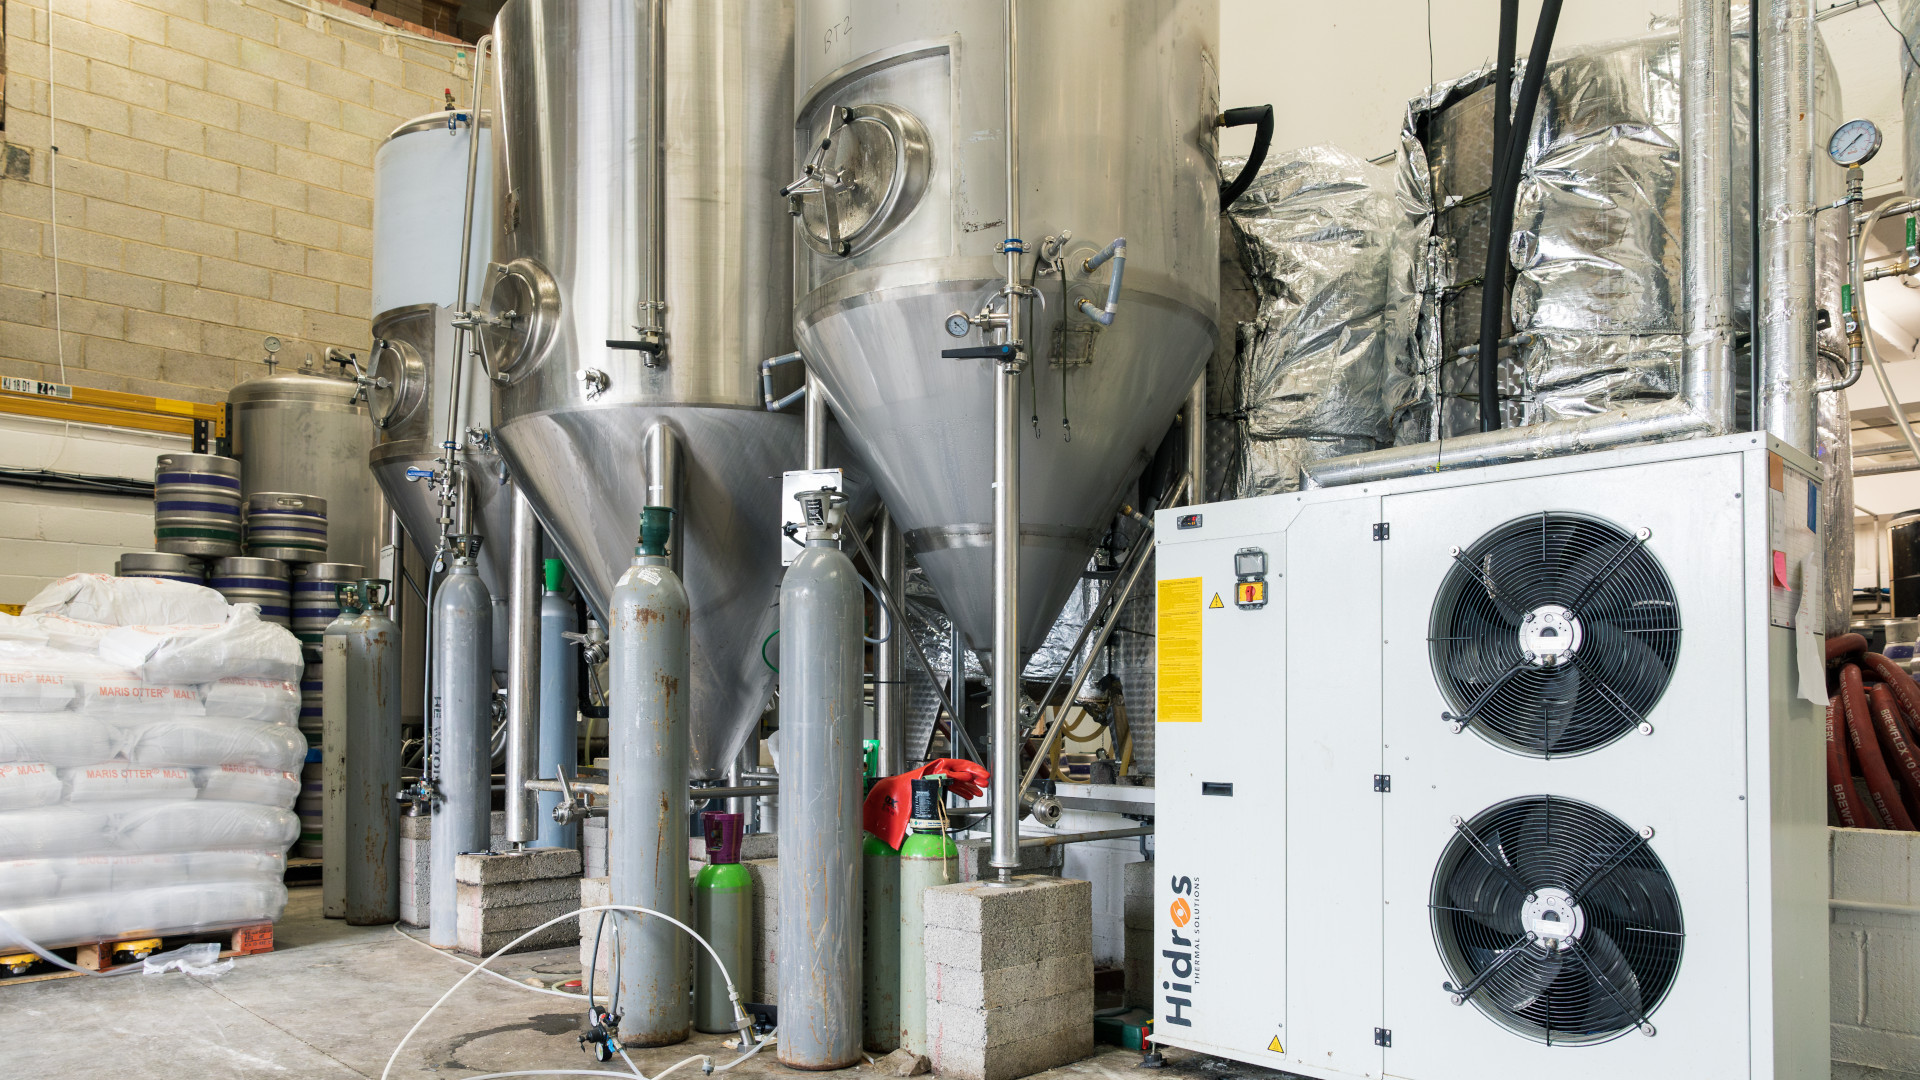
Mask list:
[[[1309,465],[1317,488],[1607,450],[1734,429],[1734,63],[1728,0],[1680,2],[1680,400],[1597,417],[1473,432]]]

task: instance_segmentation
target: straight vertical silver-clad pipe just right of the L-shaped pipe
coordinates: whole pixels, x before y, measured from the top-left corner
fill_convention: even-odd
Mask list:
[[[1761,415],[1782,442],[1814,452],[1814,102],[1812,4],[1757,8]]]

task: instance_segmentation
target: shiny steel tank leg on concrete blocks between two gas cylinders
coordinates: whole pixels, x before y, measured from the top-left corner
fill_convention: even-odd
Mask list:
[[[526,790],[540,776],[540,519],[518,484],[507,565],[507,842],[522,847],[540,838]]]

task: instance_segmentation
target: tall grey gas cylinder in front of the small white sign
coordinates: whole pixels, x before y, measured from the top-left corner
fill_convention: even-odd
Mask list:
[[[780,584],[778,1055],[791,1068],[860,1063],[864,601],[837,521],[808,528]]]

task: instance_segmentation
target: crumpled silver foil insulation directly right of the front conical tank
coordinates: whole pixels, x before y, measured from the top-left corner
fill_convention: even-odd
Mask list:
[[[1388,281],[1409,273],[1409,221],[1392,169],[1308,146],[1269,158],[1227,223],[1256,309],[1235,336],[1219,496],[1290,492],[1300,461],[1390,442],[1388,357],[1411,304]]]

